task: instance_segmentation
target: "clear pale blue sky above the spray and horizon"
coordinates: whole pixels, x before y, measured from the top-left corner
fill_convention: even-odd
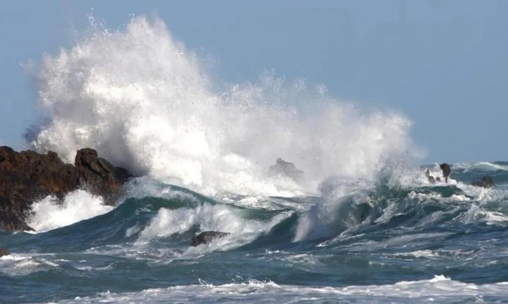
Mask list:
[[[16,1],[0,11],[0,143],[37,117],[27,62],[69,47],[88,15],[159,17],[225,82],[265,69],[408,117],[423,163],[508,160],[508,1]]]

